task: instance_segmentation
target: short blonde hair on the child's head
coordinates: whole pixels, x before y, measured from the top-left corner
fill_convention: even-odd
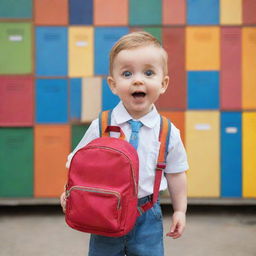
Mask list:
[[[138,31],[138,32],[132,32],[129,33],[123,37],[121,37],[112,47],[110,54],[109,54],[109,73],[112,75],[113,71],[113,63],[115,60],[115,57],[117,54],[123,50],[129,50],[144,46],[153,45],[163,51],[163,61],[164,61],[164,74],[167,75],[168,73],[168,55],[167,52],[162,47],[161,43],[151,34],[144,32],[144,31]]]

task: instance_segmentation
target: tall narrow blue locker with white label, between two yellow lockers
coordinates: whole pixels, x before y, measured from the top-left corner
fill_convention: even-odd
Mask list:
[[[221,196],[242,196],[241,113],[221,113]]]

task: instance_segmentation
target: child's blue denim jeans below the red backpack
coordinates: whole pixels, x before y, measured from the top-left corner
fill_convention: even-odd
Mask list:
[[[139,205],[148,198],[139,199]],[[163,221],[159,202],[138,217],[122,237],[91,235],[88,256],[164,256]]]

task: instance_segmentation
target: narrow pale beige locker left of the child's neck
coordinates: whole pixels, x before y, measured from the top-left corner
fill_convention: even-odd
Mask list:
[[[102,79],[100,77],[83,78],[82,82],[82,122],[91,122],[101,111]]]

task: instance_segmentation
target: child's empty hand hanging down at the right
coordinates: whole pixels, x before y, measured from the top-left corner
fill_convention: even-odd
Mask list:
[[[174,212],[172,216],[172,225],[170,232],[166,236],[170,236],[173,239],[181,237],[186,225],[186,214],[184,212]]]

